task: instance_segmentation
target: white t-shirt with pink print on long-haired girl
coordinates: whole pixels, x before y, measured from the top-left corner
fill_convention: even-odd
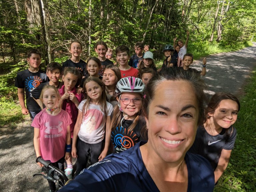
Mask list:
[[[86,99],[79,104],[78,109],[80,111],[83,110],[85,102]],[[112,104],[107,102],[107,115],[110,116],[112,111]],[[101,105],[90,104],[89,112],[87,112],[86,116],[83,116],[82,119],[78,133],[79,139],[89,144],[101,142],[105,134],[105,122],[103,122],[103,120],[104,112],[101,110]]]

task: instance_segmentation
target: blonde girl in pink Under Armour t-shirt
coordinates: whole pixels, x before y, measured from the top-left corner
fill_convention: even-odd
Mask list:
[[[38,113],[32,125],[34,127],[34,147],[36,156],[50,161],[64,172],[64,161],[70,157],[71,136],[69,114],[58,107],[60,95],[54,86],[46,85],[42,89],[40,102],[45,108]],[[40,167],[43,165],[37,163]],[[55,183],[49,181],[50,191],[55,191]]]

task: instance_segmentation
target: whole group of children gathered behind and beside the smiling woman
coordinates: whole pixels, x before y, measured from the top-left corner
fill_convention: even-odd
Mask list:
[[[164,47],[166,59],[162,67],[193,70],[190,68],[193,55],[186,54],[188,35],[189,33],[185,45],[181,40],[178,41],[180,49],[175,49],[178,58],[177,54],[173,53],[172,45]],[[119,65],[117,67],[107,58],[112,57],[112,50],[111,54],[107,55],[106,43],[97,42],[95,51],[98,57],[90,57],[86,63],[80,59],[81,43],[73,41],[69,47],[71,58],[62,66],[56,62],[48,64],[46,74],[39,70],[41,53],[36,49],[31,50],[27,59],[29,69],[17,74],[15,86],[18,88],[22,113],[30,114],[33,120],[36,156],[49,160],[62,171],[66,160],[65,174],[70,178],[73,171],[72,157],[77,158],[78,175],[86,168],[88,159],[93,164],[104,159],[109,153],[119,153],[140,140],[146,141],[143,103],[147,95],[146,85],[157,74],[153,53],[148,50],[148,45],[144,47],[142,43],[137,42],[136,53],[130,58],[129,48],[125,45],[118,46],[115,50]],[[179,54],[181,51],[182,54]],[[204,59],[202,71],[198,74],[205,75],[205,64]],[[215,101],[215,108],[212,107],[206,114],[211,123],[205,124],[204,127],[207,133],[213,136],[223,132],[222,128],[226,133],[226,129],[230,129],[236,120],[229,123],[230,127],[222,126],[221,123],[221,127],[214,127],[218,122],[211,114],[217,113],[215,110],[220,102],[221,100]],[[225,105],[221,110],[229,112],[229,109],[226,109],[229,106]],[[233,111],[237,114],[239,108]],[[216,131],[213,131],[215,128]],[[235,129],[232,130],[230,134],[233,134],[231,139],[234,140]],[[230,134],[228,133],[229,136]],[[233,146],[230,144],[225,149],[231,150],[231,145]],[[230,156],[230,153],[228,154]],[[218,155],[220,159],[227,156],[222,155],[222,151],[218,152]],[[214,166],[216,168],[216,165]],[[217,179],[219,177],[217,176]],[[55,191],[55,184],[48,182],[50,191]]]

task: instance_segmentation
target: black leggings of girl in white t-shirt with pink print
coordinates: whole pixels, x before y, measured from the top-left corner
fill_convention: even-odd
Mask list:
[[[89,154],[91,155],[91,164],[97,163],[99,161],[99,156],[101,153],[103,141],[95,144],[89,144],[78,137],[77,141],[77,167],[76,176],[86,168]]]

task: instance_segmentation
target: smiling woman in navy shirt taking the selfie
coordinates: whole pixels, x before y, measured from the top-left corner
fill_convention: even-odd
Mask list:
[[[213,191],[210,163],[187,152],[203,120],[204,88],[193,71],[163,69],[148,84],[148,142],[107,156],[60,191]]]

